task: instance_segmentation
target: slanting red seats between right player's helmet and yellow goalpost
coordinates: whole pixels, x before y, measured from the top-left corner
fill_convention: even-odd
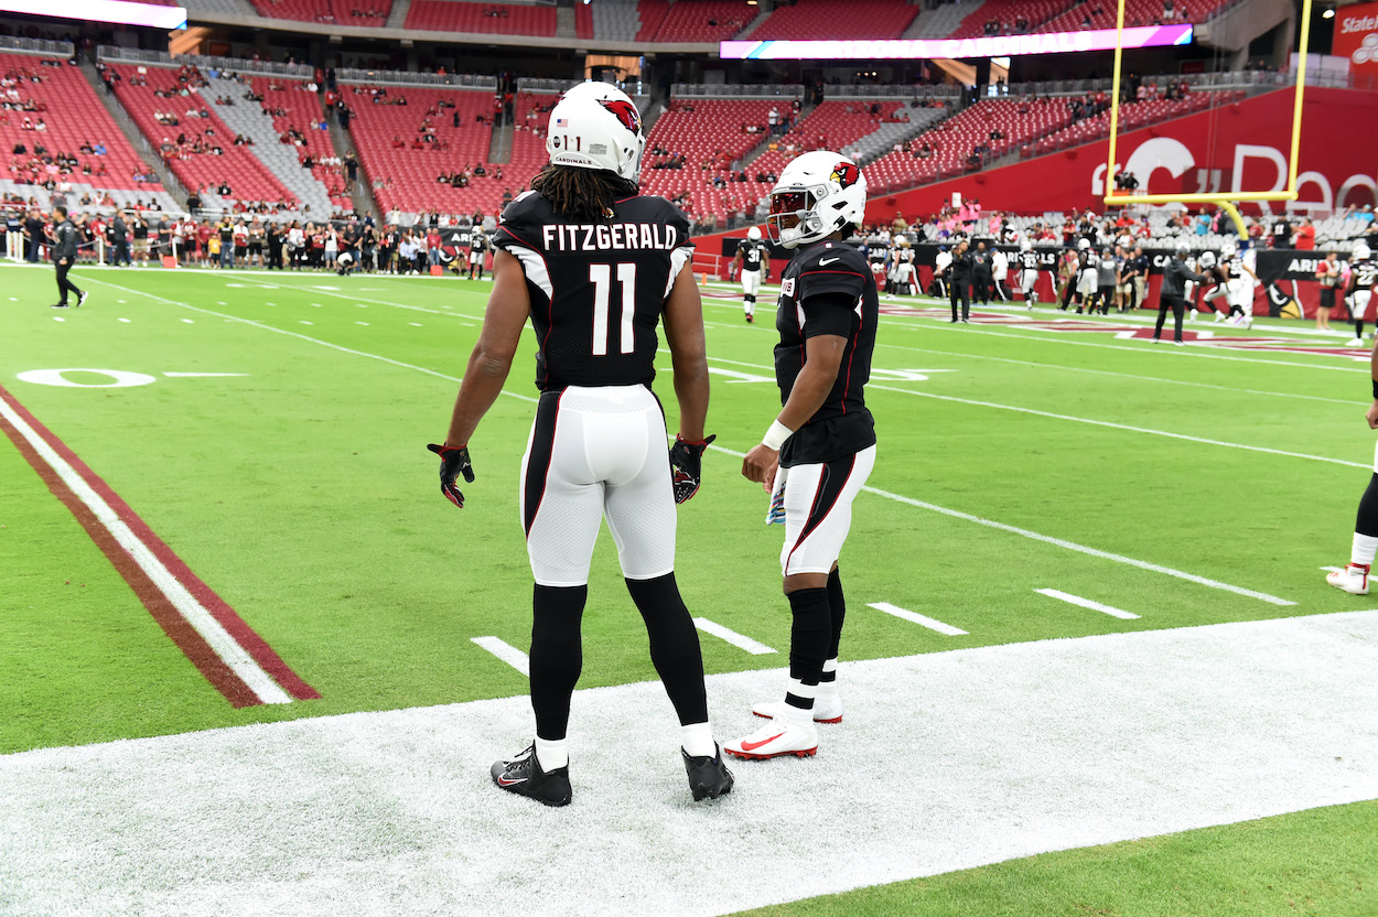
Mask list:
[[[887,153],[870,162],[867,172],[876,189],[923,185],[969,171],[967,157],[977,146],[989,147],[985,153],[988,157],[1003,156],[1067,127],[1071,121],[1072,114],[1062,99],[983,99],[914,138],[908,150]],[[992,139],[992,132],[1003,136]],[[932,156],[921,158],[919,151],[925,143],[932,147]]]

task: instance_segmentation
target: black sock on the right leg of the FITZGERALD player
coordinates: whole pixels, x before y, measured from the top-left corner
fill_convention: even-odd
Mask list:
[[[650,661],[666,686],[681,726],[708,721],[708,698],[703,687],[703,653],[699,631],[679,596],[675,574],[655,580],[627,580],[631,600],[646,622]]]

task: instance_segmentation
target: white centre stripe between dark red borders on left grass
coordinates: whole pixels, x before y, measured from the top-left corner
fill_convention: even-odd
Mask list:
[[[172,571],[149,549],[143,541],[134,534],[110,508],[110,504],[88,485],[76,468],[68,464],[66,458],[50,446],[37,431],[30,427],[6,401],[0,399],[0,414],[19,431],[29,445],[45,463],[62,478],[62,482],[72,489],[77,498],[87,505],[96,520],[114,537],[121,548],[147,574],[153,585],[168,598],[187,624],[215,650],[215,654],[243,680],[263,704],[291,704],[292,698],[254,661],[243,646],[220,626],[205,606],[196,600],[186,587],[183,587]]]

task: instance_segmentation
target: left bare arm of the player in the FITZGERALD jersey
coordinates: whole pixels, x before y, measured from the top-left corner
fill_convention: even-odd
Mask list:
[[[531,299],[526,295],[526,278],[521,262],[504,251],[497,251],[493,255],[493,292],[488,297],[478,343],[469,355],[469,368],[459,386],[449,435],[445,436],[446,446],[467,446],[478,421],[497,401],[497,394],[511,370],[513,357],[517,354],[517,344],[529,313]]]

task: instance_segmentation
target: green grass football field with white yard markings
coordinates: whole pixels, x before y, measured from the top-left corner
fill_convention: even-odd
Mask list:
[[[463,511],[440,496],[424,449],[444,436],[488,282],[79,268],[88,304],[56,311],[51,271],[3,277],[11,401],[320,697],[232,705],[36,474],[33,450],[6,439],[0,774],[36,749],[525,694],[525,676],[474,639],[529,643],[517,509],[536,394],[529,330],[508,397],[470,443],[478,478]],[[773,313],[748,325],[732,293],[706,288],[718,449],[679,509],[677,554],[690,610],[732,637],[701,635],[708,672],[725,676],[779,669],[790,633],[781,530],[762,525],[766,497],[740,476],[779,406]],[[879,456],[841,559],[847,662],[1371,607],[1323,573],[1348,560],[1372,465],[1367,355],[1344,350],[1345,336],[1195,324],[1209,336],[1173,347],[1144,339],[1151,314],[978,307],[974,324],[951,325],[927,300],[885,306],[867,391]],[[668,362],[656,390],[672,432]],[[582,688],[656,677],[606,533],[583,635]],[[773,691],[780,680],[766,677]],[[1372,679],[1357,682],[1372,697]],[[1368,757],[1330,756],[1359,771],[1342,805],[1108,845],[1049,841],[1038,850],[1064,852],[897,873],[897,884],[843,874],[832,887],[867,888],[761,913],[1378,914],[1372,709],[1353,724]],[[755,728],[743,709],[711,712],[719,739]],[[846,721],[828,728],[820,761],[846,742]],[[496,759],[522,742],[478,750]],[[909,763],[923,772],[922,746]],[[737,793],[785,764],[734,766]],[[8,828],[0,861],[23,845],[22,826]],[[34,888],[0,878],[0,913],[50,913]]]

